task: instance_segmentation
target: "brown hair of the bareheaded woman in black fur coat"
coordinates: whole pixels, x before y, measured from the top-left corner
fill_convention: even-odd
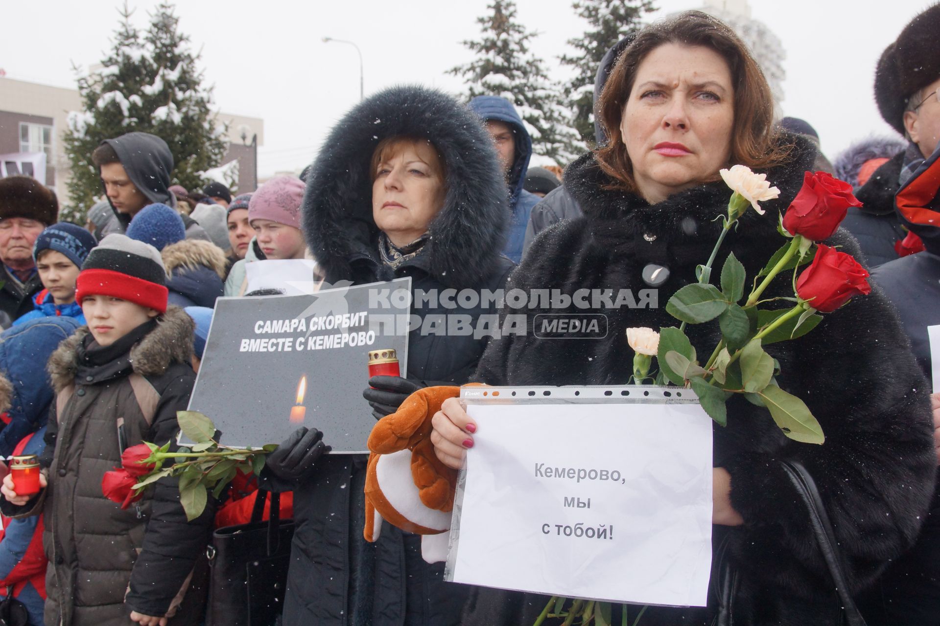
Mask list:
[[[612,188],[636,190],[633,163],[623,144],[620,120],[640,64],[648,54],[666,43],[704,46],[720,54],[728,63],[734,87],[729,165],[741,163],[751,168],[767,168],[786,160],[791,146],[778,141],[773,126],[774,99],[770,86],[744,42],[721,20],[701,11],[685,11],[640,31],[620,54],[603,86],[598,117],[608,141],[597,148],[594,155],[603,173],[617,180]]]

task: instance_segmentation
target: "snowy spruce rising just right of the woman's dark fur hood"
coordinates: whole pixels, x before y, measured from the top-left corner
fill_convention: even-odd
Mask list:
[[[559,85],[549,79],[545,63],[529,52],[535,32],[516,22],[512,0],[493,0],[489,13],[477,19],[480,38],[463,41],[475,58],[449,72],[466,85],[466,98],[501,96],[509,99],[532,135],[535,154],[565,166],[583,149],[567,126],[568,111]]]

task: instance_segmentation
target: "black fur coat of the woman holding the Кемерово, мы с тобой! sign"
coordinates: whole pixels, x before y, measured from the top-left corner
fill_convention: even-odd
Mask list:
[[[793,141],[790,165],[767,176],[780,189],[780,199],[765,203],[766,215],[748,210],[719,253],[718,267],[734,252],[748,281],[782,245],[777,213],[794,197],[815,158],[806,140]],[[631,354],[625,328],[676,324],[664,309],[666,301],[695,281],[697,264],[712,251],[721,228],[714,217],[725,211],[729,189],[721,182],[703,185],[650,206],[634,194],[603,189],[609,181],[591,154],[569,166],[565,186],[585,216],[540,235],[507,289],[635,292],[646,287],[643,267],[657,263],[671,272],[659,291],[659,308],[594,312],[609,320],[609,339],[603,342],[540,340],[531,331],[493,341],[480,360],[478,380],[493,385],[626,384],[632,362],[624,357]],[[857,251],[843,231],[830,243]],[[789,291],[782,281],[775,286],[773,295]],[[716,327],[691,325],[686,332],[693,345],[712,346],[719,337]],[[928,509],[936,460],[927,388],[896,315],[877,290],[827,315],[807,336],[769,345],[767,351],[781,364],[780,387],[807,403],[826,441],[823,446],[794,442],[765,409],[740,396],[729,400],[727,427],[713,428],[713,459],[714,466],[730,473],[731,504],[744,525],[714,527],[713,554],[727,538],[730,563],[741,573],[736,624],[835,624],[838,601],[807,511],[774,461],[795,459],[808,468],[827,503],[849,584],[853,591],[866,588],[888,559],[913,544]],[[546,602],[534,594],[479,588],[462,623],[531,624]],[[650,607],[641,623],[709,624],[714,615],[713,588],[707,608]]]

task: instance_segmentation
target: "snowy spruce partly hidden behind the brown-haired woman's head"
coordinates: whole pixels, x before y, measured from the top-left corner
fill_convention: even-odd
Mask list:
[[[603,55],[620,39],[639,30],[643,14],[655,8],[650,0],[575,0],[572,7],[578,17],[587,20],[587,30],[568,40],[576,52],[559,60],[575,72],[566,84],[571,124],[586,145],[594,145],[594,77]]]

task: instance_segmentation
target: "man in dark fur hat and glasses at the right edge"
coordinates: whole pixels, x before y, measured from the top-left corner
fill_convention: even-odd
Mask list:
[[[885,48],[875,70],[875,100],[885,121],[908,140],[855,192],[865,206],[842,223],[858,239],[869,267],[898,258],[895,243],[907,235],[895,214],[894,195],[931,156],[940,141],[940,4],[908,23]]]

